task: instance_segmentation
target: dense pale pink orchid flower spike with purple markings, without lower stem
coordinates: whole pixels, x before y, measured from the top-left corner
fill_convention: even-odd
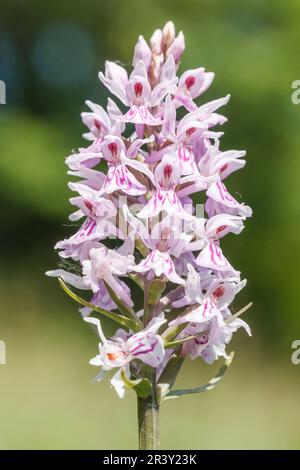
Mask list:
[[[160,383],[171,359],[212,363],[228,357],[238,328],[250,334],[229,308],[246,281],[220,245],[251,216],[224,185],[244,167],[245,152],[220,150],[223,133],[213,128],[226,122],[218,111],[229,95],[196,104],[214,74],[203,67],[178,73],[184,49],[182,32],[176,36],[169,22],[150,45],[139,37],[130,74],[107,61],[99,79],[117,102],[109,98],[106,110],[86,102],[89,145],[66,159],[77,178],[69,183],[76,194],[70,220],[82,222],[56,245],[71,268],[47,274],[90,292],[81,313],[100,338],[91,364],[100,368],[98,380],[115,370],[120,397],[149,366]],[[107,339],[92,310],[125,328]]]

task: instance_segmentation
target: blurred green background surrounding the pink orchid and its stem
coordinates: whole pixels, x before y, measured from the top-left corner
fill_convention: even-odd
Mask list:
[[[1,0],[2,449],[137,446],[134,394],[121,401],[107,381],[91,384],[95,337],[44,272],[72,230],[64,158],[83,144],[84,100],[106,102],[97,73],[106,58],[129,64],[138,35],[169,19],[186,36],[182,70],[216,73],[202,100],[232,94],[222,148],[246,149],[248,163],[228,184],[254,217],[224,251],[248,278],[234,307],[254,306],[253,338],[236,334],[220,386],[162,407],[162,448],[300,447],[299,1]],[[205,383],[219,365],[190,362],[178,385]]]

